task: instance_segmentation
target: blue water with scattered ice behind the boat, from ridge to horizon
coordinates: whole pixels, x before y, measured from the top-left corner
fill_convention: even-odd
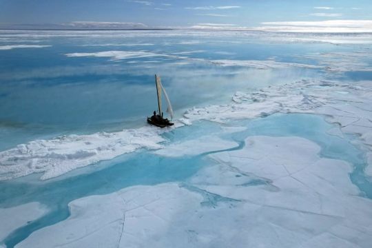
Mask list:
[[[329,70],[345,72],[342,79],[371,77],[370,51],[359,49],[360,41],[369,46],[367,34],[1,31],[0,38],[0,46],[12,48],[0,50],[0,149],[145,125],[156,105],[155,73],[177,99],[178,116],[194,105],[227,102],[237,90],[329,76]],[[351,65],[344,54],[355,50],[364,55]]]

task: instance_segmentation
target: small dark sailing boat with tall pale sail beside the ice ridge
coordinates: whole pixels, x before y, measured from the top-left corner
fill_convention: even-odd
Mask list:
[[[165,100],[167,101],[167,112],[171,119],[173,118],[173,109],[172,105],[170,103],[169,97],[167,92],[165,91],[163,85],[161,84],[161,78],[160,76],[155,74],[155,84],[156,84],[156,93],[158,95],[158,114],[156,114],[156,111],[154,111],[154,115],[151,117],[147,117],[147,122],[156,125],[157,127],[167,127],[174,125],[174,123],[171,123],[167,118],[163,118],[163,112],[161,110],[161,92],[164,93]]]

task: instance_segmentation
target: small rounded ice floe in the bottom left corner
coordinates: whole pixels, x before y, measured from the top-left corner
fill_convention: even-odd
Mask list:
[[[0,242],[15,229],[37,220],[47,212],[48,209],[40,203],[26,203],[17,207],[0,208]]]

